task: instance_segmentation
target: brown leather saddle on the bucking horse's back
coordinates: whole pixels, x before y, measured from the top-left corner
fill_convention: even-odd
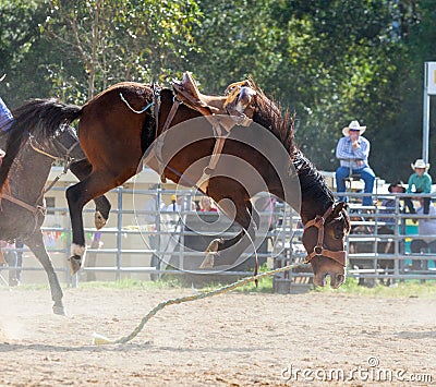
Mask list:
[[[227,132],[230,132],[234,125],[249,126],[252,123],[254,110],[251,105],[256,92],[249,81],[231,84],[226,90],[227,96],[209,96],[199,93],[195,80],[186,71],[183,73],[182,81],[172,82],[172,88],[179,101],[197,110],[206,118],[220,116],[219,124]]]

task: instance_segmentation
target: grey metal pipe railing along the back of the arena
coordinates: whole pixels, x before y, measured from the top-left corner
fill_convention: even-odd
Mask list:
[[[64,197],[64,188],[55,188],[55,192],[59,192],[61,197]],[[89,278],[101,280],[119,280],[122,278],[138,278],[138,279],[158,279],[164,275],[198,275],[199,270],[189,269],[187,271],[171,267],[169,264],[161,264],[159,256],[168,256],[177,258],[178,264],[182,265],[185,259],[202,261],[204,253],[201,250],[185,251],[168,251],[167,246],[161,245],[165,239],[172,238],[177,240],[174,245],[185,245],[185,240],[192,241],[198,237],[196,231],[182,227],[178,230],[166,229],[164,222],[156,223],[155,227],[142,225],[141,221],[134,221],[135,217],[141,218],[145,215],[150,215],[150,211],[142,209],[145,199],[156,195],[166,203],[177,192],[172,190],[131,190],[126,188],[118,188],[110,192],[112,210],[108,225],[99,230],[100,241],[104,243],[100,247],[88,247],[87,262],[78,276],[71,276],[66,258],[71,250],[71,225],[68,215],[66,204],[61,203],[61,206],[50,207],[48,216],[43,227],[46,245],[55,262],[58,273],[63,274],[64,281],[68,286],[77,286],[78,281],[84,281]],[[180,191],[178,191],[180,193]],[[183,191],[187,198],[187,203],[192,203],[194,191]],[[132,196],[135,198],[132,199]],[[159,196],[160,195],[160,196]],[[412,253],[410,251],[410,242],[412,239],[417,239],[416,225],[413,220],[423,219],[419,215],[403,214],[401,202],[405,194],[372,194],[374,205],[363,207],[359,203],[364,194],[348,193],[351,198],[350,214],[352,217],[352,232],[347,239],[347,250],[349,253],[348,275],[355,277],[361,283],[372,281],[384,281],[393,283],[403,280],[434,280],[436,279],[436,252],[420,251]],[[425,195],[423,195],[425,196]],[[431,196],[431,195],[427,195]],[[382,206],[382,201],[385,197],[395,199],[393,214],[384,214],[387,208]],[[133,205],[132,205],[132,202]],[[64,204],[62,206],[62,204]],[[141,204],[141,205],[140,205]],[[135,209],[135,207],[138,207]],[[85,225],[93,225],[93,206],[85,208]],[[191,210],[181,211],[181,216],[185,217],[193,213]],[[161,210],[152,211],[152,215],[162,219]],[[269,216],[269,214],[262,214]],[[301,262],[304,258],[305,252],[301,244],[302,228],[300,218],[288,205],[278,203],[274,216],[277,218],[277,225],[266,230],[262,238],[268,238],[265,249],[258,249],[258,257],[266,259],[269,267],[283,266],[293,262]],[[386,233],[384,227],[387,226],[387,218],[393,218],[393,227],[391,233]],[[434,219],[435,216],[427,215],[427,219]],[[230,225],[231,222],[229,222]],[[390,223],[391,226],[391,223]],[[361,231],[358,231],[361,228]],[[363,232],[362,232],[363,229]],[[90,244],[97,230],[93,227],[85,229],[87,242]],[[213,233],[213,229],[210,230]],[[237,228],[221,231],[223,237],[231,237],[238,232]],[[158,235],[158,244],[152,246],[144,242],[150,235]],[[427,238],[434,239],[435,235]],[[211,237],[210,237],[211,239]],[[162,242],[162,243],[164,243]],[[389,245],[387,247],[387,244]],[[384,251],[383,249],[386,249]],[[23,271],[39,273],[43,275],[41,281],[45,281],[45,273],[39,263],[28,257],[32,255],[27,247],[16,250],[19,253],[24,253]],[[244,257],[251,258],[252,252],[245,253]],[[29,259],[29,262],[27,262]],[[90,264],[90,265],[89,265]],[[217,278],[220,276],[246,276],[252,274],[250,265],[244,269],[234,271],[216,271]],[[3,269],[4,271],[4,269]],[[26,275],[27,276],[27,275]],[[28,275],[28,281],[32,281],[33,276]],[[280,280],[287,280],[291,283],[300,283],[302,278],[310,279],[312,271],[307,266],[307,270],[291,271],[279,277]],[[24,277],[23,277],[24,278]],[[24,278],[25,280],[25,278]],[[27,281],[27,280],[25,280]],[[303,283],[307,283],[304,281]]]

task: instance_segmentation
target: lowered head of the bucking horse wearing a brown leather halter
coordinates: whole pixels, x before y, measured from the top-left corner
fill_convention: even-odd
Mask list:
[[[350,232],[350,217],[343,202],[316,216],[304,226],[303,244],[308,255],[306,261],[314,271],[314,283],[324,286],[330,276],[330,286],[339,288],[346,279],[346,235]]]

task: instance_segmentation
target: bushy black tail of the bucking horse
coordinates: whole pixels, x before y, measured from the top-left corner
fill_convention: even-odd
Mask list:
[[[55,136],[62,125],[69,125],[82,114],[82,108],[59,100],[33,99],[13,111],[14,120],[9,130],[5,156],[0,167],[0,192],[8,179],[12,164],[29,134],[44,138]]]

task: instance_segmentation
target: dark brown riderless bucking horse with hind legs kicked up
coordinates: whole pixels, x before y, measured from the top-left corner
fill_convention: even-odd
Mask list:
[[[296,179],[301,189],[301,208],[299,213],[304,225],[303,244],[307,251],[306,261],[314,271],[314,283],[325,285],[325,278],[330,276],[330,286],[339,287],[346,278],[346,252],[344,238],[350,230],[349,216],[344,203],[335,203],[332,193],[325,184],[320,173],[313,164],[304,157],[293,142],[293,118],[282,116],[280,108],[256,86],[251,86],[252,92],[235,93],[235,104],[249,99],[244,107],[251,110],[252,124],[246,128],[235,126],[232,135],[250,133],[252,137],[262,137],[257,126],[279,140],[280,147],[270,152],[286,152],[289,156],[295,173],[289,172],[289,165],[282,166],[288,172],[287,178],[281,179],[282,171],[276,171],[275,166],[268,160],[269,156],[256,152],[252,146],[245,145],[238,138],[229,136],[221,147],[222,156],[235,156],[252,166],[264,179],[267,190],[282,201],[289,201],[286,191],[294,186]],[[244,90],[246,92],[246,90]],[[227,97],[217,97],[225,104]],[[174,105],[175,106],[174,108]],[[245,109],[244,108],[244,109]],[[165,160],[164,171],[159,168],[155,146],[155,138],[159,138],[162,132],[174,133],[180,123],[191,119],[201,118],[203,113],[189,104],[178,100],[178,95],[170,88],[156,92],[152,85],[132,82],[116,84],[98,94],[84,106],[66,105],[60,101],[39,104],[34,106],[35,120],[22,130],[35,131],[35,128],[44,126],[47,133],[55,132],[60,124],[69,124],[80,119],[78,138],[89,164],[90,173],[80,183],[66,191],[70,216],[73,228],[73,247],[70,265],[73,271],[80,269],[85,253],[85,239],[83,231],[83,206],[92,198],[101,195],[109,190],[122,184],[137,172],[147,149],[152,168],[182,185],[193,185],[198,181],[198,176],[193,179],[184,179],[184,172],[190,166],[199,160],[214,158],[216,136],[214,137],[213,124],[207,122],[202,130],[210,133],[207,138],[202,138],[187,144],[175,155],[170,155]],[[245,111],[245,110],[244,110]],[[38,124],[35,126],[35,124]],[[171,128],[173,130],[168,131]],[[21,143],[22,133],[15,133],[15,145],[7,148],[10,158],[14,157],[15,148]],[[167,138],[164,141],[164,149],[167,147]],[[162,145],[162,144],[160,144]],[[161,152],[165,155],[165,150]],[[217,170],[220,167],[217,162]],[[210,165],[210,161],[209,161]],[[215,254],[213,265],[234,263],[237,257],[250,245],[250,241],[258,223],[258,214],[253,208],[251,196],[265,188],[254,186],[249,193],[235,179],[227,178],[226,173],[213,173],[207,179],[202,191],[217,202],[221,209],[233,218],[243,230],[229,240],[216,240],[211,243],[210,251]],[[5,165],[0,168],[0,186],[3,184],[8,170]],[[199,173],[199,172],[197,172]],[[194,173],[195,174],[195,173]],[[283,174],[283,173],[281,173]],[[221,205],[221,203],[231,205]]]

